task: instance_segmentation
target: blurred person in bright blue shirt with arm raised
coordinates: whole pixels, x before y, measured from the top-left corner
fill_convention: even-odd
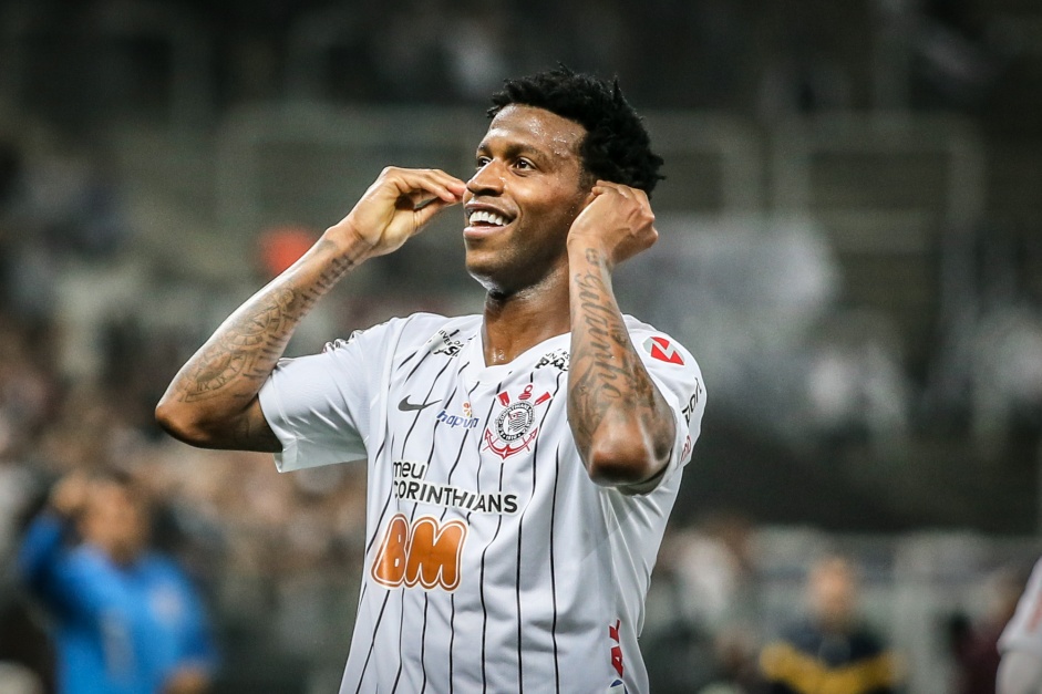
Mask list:
[[[132,480],[74,473],[29,526],[19,570],[52,617],[62,694],[202,694],[216,656],[202,601],[148,548]]]

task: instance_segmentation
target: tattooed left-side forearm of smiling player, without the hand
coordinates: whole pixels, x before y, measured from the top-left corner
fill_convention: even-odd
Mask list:
[[[174,377],[156,408],[164,428],[205,447],[278,450],[257,395],[300,321],[369,250],[323,237],[240,305]]]

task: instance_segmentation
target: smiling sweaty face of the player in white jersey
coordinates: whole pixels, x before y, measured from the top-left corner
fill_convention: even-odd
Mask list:
[[[591,184],[579,156],[585,136],[578,123],[533,106],[512,104],[493,118],[463,196],[467,271],[488,291],[513,294],[567,270],[568,229]]]

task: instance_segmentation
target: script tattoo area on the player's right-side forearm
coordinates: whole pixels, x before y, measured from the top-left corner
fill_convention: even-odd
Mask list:
[[[572,351],[569,418],[576,444],[589,450],[606,418],[636,418],[658,436],[664,403],[637,355],[607,279],[607,263],[595,249],[571,282]],[[666,426],[672,423],[666,419]],[[668,433],[668,432],[667,432]]]

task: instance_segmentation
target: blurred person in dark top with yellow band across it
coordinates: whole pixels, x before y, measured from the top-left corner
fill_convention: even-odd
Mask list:
[[[807,576],[809,619],[768,644],[760,665],[772,694],[888,694],[900,673],[894,654],[857,614],[858,581],[844,558],[829,556]]]

